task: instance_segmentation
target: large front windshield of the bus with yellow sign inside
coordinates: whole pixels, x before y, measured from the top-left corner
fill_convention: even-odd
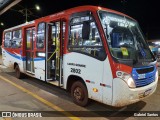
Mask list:
[[[155,60],[135,20],[106,11],[99,11],[99,17],[114,58],[136,62]]]

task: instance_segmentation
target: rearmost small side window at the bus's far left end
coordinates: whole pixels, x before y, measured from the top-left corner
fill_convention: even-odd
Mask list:
[[[11,38],[12,38],[12,33],[6,32],[5,38],[4,38],[4,47],[6,47],[6,48],[11,47]]]

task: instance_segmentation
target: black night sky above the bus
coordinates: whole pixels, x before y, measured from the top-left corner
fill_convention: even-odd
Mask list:
[[[40,11],[31,9],[36,4],[40,6]],[[34,15],[28,17],[28,20],[31,21],[81,5],[98,5],[125,13],[139,22],[148,40],[160,40],[160,7],[158,0],[22,0],[18,5],[0,16],[0,22],[4,23],[4,26],[0,26],[0,38],[4,29],[25,22],[25,16],[17,12],[18,10],[30,9]]]

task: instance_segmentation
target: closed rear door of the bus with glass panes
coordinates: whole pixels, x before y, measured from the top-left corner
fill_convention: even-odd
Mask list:
[[[26,71],[35,73],[34,70],[34,38],[35,28],[26,29]]]

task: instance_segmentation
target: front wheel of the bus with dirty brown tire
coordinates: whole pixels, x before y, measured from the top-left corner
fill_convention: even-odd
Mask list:
[[[86,86],[80,82],[76,81],[71,87],[71,96],[73,102],[80,106],[86,106],[88,104],[88,92]]]

